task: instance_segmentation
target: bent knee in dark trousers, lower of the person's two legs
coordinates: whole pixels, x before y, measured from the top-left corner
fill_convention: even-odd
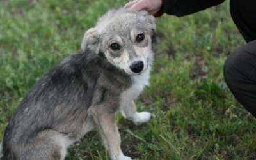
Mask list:
[[[235,98],[256,117],[256,40],[228,55],[224,76]]]

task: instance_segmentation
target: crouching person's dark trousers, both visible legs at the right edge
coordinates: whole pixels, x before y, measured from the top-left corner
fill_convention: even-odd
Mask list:
[[[224,77],[235,98],[256,117],[256,1],[230,0],[230,13],[248,42],[227,57]]]

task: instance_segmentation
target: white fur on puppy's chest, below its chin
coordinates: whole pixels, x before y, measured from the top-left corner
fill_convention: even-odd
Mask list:
[[[149,85],[149,69],[141,75],[132,77],[132,85],[121,94],[121,107],[129,104],[134,99],[138,98],[145,85]]]

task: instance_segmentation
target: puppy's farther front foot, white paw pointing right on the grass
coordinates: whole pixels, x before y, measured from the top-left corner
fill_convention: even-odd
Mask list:
[[[134,101],[131,101],[128,106],[124,106],[122,113],[126,119],[132,120],[132,122],[136,125],[148,122],[151,117],[149,112],[137,112]]]

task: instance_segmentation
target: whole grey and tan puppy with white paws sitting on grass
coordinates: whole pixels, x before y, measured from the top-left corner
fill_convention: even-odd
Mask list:
[[[61,160],[67,148],[99,129],[111,159],[129,160],[121,148],[116,113],[136,125],[150,120],[136,99],[149,84],[156,19],[118,8],[84,33],[81,48],[46,73],[13,113],[1,160]]]

